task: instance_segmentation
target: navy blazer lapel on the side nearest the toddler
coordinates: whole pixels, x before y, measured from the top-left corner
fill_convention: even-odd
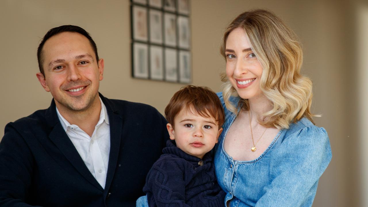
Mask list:
[[[122,136],[121,131],[123,128],[123,119],[117,110],[114,110],[112,104],[110,104],[109,99],[103,97],[100,94],[103,103],[106,106],[107,114],[109,115],[110,122],[110,155],[109,155],[109,166],[107,167],[106,184],[104,196],[110,188],[111,182],[114,178],[114,173],[116,171],[116,165],[119,157],[120,145]]]

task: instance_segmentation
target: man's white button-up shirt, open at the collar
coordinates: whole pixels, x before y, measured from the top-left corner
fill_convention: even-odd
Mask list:
[[[100,119],[95,126],[92,137],[77,125],[70,124],[64,119],[57,107],[56,112],[57,116],[59,116],[61,126],[63,126],[74,147],[77,149],[79,155],[81,155],[85,165],[93,177],[96,178],[97,182],[105,189],[110,154],[110,122],[109,116],[107,116],[106,106],[103,104],[101,98],[100,102]]]

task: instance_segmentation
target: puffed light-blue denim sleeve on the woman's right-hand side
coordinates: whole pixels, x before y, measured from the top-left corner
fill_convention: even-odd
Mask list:
[[[308,126],[285,137],[270,162],[270,182],[256,207],[312,206],[319,177],[332,158],[323,128]]]

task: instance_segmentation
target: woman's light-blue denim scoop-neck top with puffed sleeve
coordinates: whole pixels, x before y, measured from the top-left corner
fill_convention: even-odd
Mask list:
[[[332,157],[325,129],[302,118],[289,129],[280,130],[258,158],[237,161],[223,147],[236,116],[226,109],[222,92],[217,95],[225,110],[223,132],[215,146],[217,181],[227,193],[224,203],[232,199],[230,207],[312,206],[319,177]],[[239,100],[230,98],[236,106]]]

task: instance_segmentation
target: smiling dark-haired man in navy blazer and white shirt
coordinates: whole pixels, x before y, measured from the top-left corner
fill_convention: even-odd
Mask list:
[[[38,48],[51,106],[8,123],[0,143],[0,206],[135,206],[168,140],[151,106],[99,94],[104,62],[84,29],[50,29]]]

